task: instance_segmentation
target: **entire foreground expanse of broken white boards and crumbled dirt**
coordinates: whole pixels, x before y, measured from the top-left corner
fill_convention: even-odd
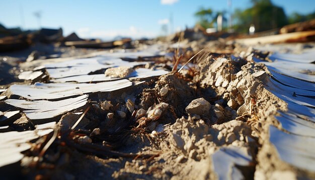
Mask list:
[[[25,83],[1,91],[0,150],[14,158],[0,170],[18,166],[30,178],[314,178],[315,50],[231,47],[205,51],[180,71],[162,46],[24,62]],[[10,137],[23,133],[29,138]]]

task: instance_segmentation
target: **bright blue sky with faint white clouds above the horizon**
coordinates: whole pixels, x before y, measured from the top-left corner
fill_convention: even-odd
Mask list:
[[[251,6],[250,0],[231,0],[232,9]],[[287,14],[315,11],[314,0],[272,0]],[[6,27],[38,29],[34,12],[41,12],[42,27],[62,27],[64,35],[76,32],[84,38],[111,39],[118,35],[133,38],[161,35],[162,24],[173,17],[174,31],[192,27],[200,8],[228,10],[227,0],[103,0],[35,1],[0,0],[0,23]]]

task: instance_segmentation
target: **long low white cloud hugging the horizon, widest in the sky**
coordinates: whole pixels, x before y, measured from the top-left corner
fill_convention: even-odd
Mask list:
[[[134,26],[122,30],[91,30],[90,28],[79,28],[76,30],[76,33],[81,38],[100,38],[103,40],[111,40],[116,36],[131,37],[134,39],[142,37],[153,38],[157,36],[155,32],[142,31]]]

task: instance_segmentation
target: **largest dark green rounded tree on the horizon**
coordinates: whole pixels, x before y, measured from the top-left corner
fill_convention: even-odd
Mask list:
[[[252,0],[253,7],[244,11],[235,11],[237,20],[234,26],[238,32],[248,32],[254,24],[256,32],[280,28],[288,24],[283,8],[274,5],[271,0]]]

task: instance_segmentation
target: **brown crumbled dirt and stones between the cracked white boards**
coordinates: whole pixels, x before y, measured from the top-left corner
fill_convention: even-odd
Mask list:
[[[204,47],[194,46],[182,49],[183,62]],[[70,112],[56,120],[59,134],[40,161],[35,157],[52,134],[33,142],[21,166],[18,162],[0,171],[8,179],[315,178],[314,172],[281,160],[269,141],[269,127],[281,128],[274,116],[288,108],[266,89],[271,72],[253,59],[266,60],[266,52],[220,42],[207,46],[234,53],[206,49],[180,72],[91,94],[88,105],[75,111],[90,108],[74,134],[68,129],[81,115]],[[66,57],[93,50],[63,51],[68,52]],[[23,58],[0,56],[3,87],[25,83],[16,77]],[[171,70],[174,63],[167,58],[154,60],[150,68]],[[31,122],[23,126],[34,127]]]

